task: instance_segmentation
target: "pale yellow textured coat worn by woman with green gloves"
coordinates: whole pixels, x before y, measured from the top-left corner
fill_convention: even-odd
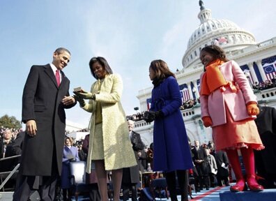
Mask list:
[[[116,170],[137,165],[130,142],[128,124],[120,99],[123,92],[123,82],[116,74],[107,75],[98,91],[99,80],[91,86],[95,101],[89,100],[82,107],[92,112],[90,121],[89,152],[87,161],[91,161],[92,144],[95,131],[96,102],[102,105],[102,135],[105,155],[105,170]],[[90,173],[91,163],[87,163],[86,172]]]

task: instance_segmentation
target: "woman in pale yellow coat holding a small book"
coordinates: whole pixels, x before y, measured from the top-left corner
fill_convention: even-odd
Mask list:
[[[112,73],[103,57],[93,57],[89,67],[97,79],[91,86],[91,92],[75,92],[80,107],[92,113],[86,172],[90,173],[91,161],[94,161],[101,200],[108,200],[107,171],[111,170],[114,200],[119,200],[122,168],[137,165],[120,102],[123,82],[119,75]],[[89,99],[89,103],[84,99]]]

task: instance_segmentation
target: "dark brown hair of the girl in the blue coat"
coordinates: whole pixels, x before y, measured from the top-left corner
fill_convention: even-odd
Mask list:
[[[169,70],[167,63],[161,59],[151,61],[150,68],[154,71],[158,79],[163,79],[169,76],[176,78],[176,75]]]

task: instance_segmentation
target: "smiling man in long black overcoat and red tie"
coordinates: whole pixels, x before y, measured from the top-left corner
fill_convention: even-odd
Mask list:
[[[52,64],[32,66],[29,72],[22,97],[26,135],[13,200],[26,201],[37,191],[41,200],[54,200],[56,179],[61,175],[64,109],[76,104],[62,71],[70,57],[69,50],[60,47],[54,51]]]

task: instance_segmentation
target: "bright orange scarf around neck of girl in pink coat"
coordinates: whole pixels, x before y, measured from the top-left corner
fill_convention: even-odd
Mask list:
[[[209,95],[215,91],[215,89],[227,84],[222,72],[220,72],[219,66],[222,64],[224,64],[224,61],[217,59],[206,66],[206,72],[202,77],[200,95]]]

